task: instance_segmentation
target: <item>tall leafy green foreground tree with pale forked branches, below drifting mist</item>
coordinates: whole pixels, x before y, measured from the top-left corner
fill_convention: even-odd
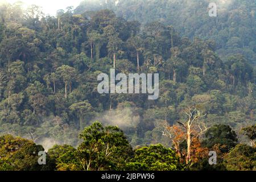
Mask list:
[[[77,148],[77,159],[85,171],[122,170],[133,150],[117,126],[103,127],[94,122],[80,134],[83,142]]]

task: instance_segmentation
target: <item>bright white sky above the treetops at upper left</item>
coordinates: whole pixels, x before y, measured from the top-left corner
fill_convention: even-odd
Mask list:
[[[0,0],[1,2],[14,3],[17,0]],[[65,10],[68,6],[77,7],[82,0],[20,0],[26,5],[38,5],[43,8],[45,14],[56,15],[56,11]]]

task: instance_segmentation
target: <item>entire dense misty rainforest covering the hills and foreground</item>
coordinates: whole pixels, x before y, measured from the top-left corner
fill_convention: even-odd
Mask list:
[[[256,170],[256,3],[208,5],[1,5],[0,170]],[[98,93],[114,65],[159,73],[159,99]]]

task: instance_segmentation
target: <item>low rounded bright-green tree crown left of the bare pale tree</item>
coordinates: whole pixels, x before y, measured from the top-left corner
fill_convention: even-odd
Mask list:
[[[135,150],[134,158],[126,164],[126,169],[131,171],[178,171],[183,167],[174,151],[162,144],[157,144]]]

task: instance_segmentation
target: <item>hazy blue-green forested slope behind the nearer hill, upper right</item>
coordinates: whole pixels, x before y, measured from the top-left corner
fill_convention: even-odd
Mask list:
[[[217,3],[217,17],[208,15],[211,2]],[[228,56],[241,53],[256,64],[255,0],[85,0],[75,13],[90,9],[111,9],[118,16],[143,25],[152,21],[171,24],[189,39],[215,40],[216,51],[225,61]]]

